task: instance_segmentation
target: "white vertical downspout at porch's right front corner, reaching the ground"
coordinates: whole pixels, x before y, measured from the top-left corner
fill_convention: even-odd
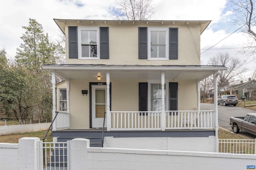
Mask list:
[[[218,75],[220,74],[220,70],[214,73],[214,107],[215,107],[215,137],[216,137],[216,150],[215,152],[219,152],[219,139],[218,139]]]

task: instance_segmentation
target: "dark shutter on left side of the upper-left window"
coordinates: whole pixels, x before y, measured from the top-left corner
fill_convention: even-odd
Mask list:
[[[68,58],[78,59],[77,27],[68,27]]]

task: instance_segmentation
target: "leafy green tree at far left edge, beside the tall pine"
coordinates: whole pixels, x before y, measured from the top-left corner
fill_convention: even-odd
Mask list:
[[[24,66],[10,64],[4,49],[0,51],[0,110],[6,117],[16,117],[23,124],[33,105],[30,72]]]

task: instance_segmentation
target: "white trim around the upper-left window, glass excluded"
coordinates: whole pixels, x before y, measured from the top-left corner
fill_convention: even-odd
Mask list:
[[[100,27],[78,26],[78,59],[83,60],[99,60],[100,59]],[[96,30],[97,31],[97,57],[82,57],[81,31]]]

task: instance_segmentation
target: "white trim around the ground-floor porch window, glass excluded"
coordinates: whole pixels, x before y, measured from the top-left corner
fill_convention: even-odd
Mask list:
[[[166,98],[166,110],[169,110],[169,82],[164,80],[165,83],[165,98]],[[161,80],[148,80],[148,111],[151,111],[151,84],[161,84]],[[161,111],[161,110],[160,110]]]

